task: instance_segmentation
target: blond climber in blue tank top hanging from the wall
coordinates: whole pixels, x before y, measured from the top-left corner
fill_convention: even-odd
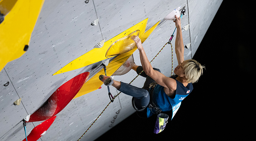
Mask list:
[[[196,60],[184,61],[184,45],[181,33],[181,18],[175,16],[175,26],[177,35],[175,40],[175,53],[177,55],[178,66],[174,69],[175,75],[166,77],[159,69],[153,68],[148,61],[146,53],[142,47],[140,38],[132,36],[139,50],[142,66],[134,64],[133,70],[146,77],[142,88],[130,84],[113,80],[110,76],[100,75],[99,79],[106,86],[114,86],[118,91],[133,97],[134,108],[141,111],[144,117],[158,114],[160,111],[170,111],[172,107],[179,104],[193,90],[192,83],[198,81],[203,74],[203,68]],[[155,84],[155,85],[152,85]],[[151,87],[153,86],[153,87]]]

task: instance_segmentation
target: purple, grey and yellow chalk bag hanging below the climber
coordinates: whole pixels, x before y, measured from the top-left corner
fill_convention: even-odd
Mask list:
[[[154,129],[154,133],[158,134],[164,130],[164,128],[167,124],[168,118],[169,118],[169,116],[165,113],[160,113],[157,115],[157,121],[156,121],[155,129]]]

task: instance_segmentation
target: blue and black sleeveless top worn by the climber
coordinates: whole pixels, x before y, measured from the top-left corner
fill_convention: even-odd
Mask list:
[[[178,76],[174,75],[171,78],[175,79],[176,77]],[[184,85],[178,80],[176,80],[176,83],[177,83],[177,88],[175,91],[175,96],[173,98],[169,97],[164,92],[163,86],[157,85],[154,88],[152,100],[155,102],[155,104],[161,111],[171,111],[173,106],[180,103],[193,90],[192,83],[188,83],[187,87],[184,87]],[[150,111],[149,108],[147,108],[147,117],[150,117],[151,115],[153,115],[153,113]]]

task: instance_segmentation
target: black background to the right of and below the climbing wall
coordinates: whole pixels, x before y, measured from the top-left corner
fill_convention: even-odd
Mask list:
[[[97,140],[250,139],[255,131],[250,7],[223,1],[193,57],[206,70],[173,120],[171,112],[164,112],[170,116],[164,131],[153,133],[156,115],[141,119],[134,113]]]

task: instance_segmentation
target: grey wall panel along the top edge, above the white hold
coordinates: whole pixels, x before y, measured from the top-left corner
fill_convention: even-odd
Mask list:
[[[148,27],[162,20],[175,8],[185,5],[179,1],[95,1],[103,38],[108,40],[140,21],[148,19]]]

